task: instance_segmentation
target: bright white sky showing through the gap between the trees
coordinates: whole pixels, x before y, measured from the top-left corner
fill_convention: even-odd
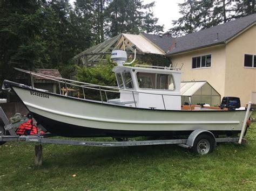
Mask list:
[[[75,0],[69,0],[73,4]],[[155,2],[153,8],[154,16],[158,18],[158,24],[164,25],[164,32],[172,27],[172,20],[177,20],[180,17],[178,3],[183,3],[184,0],[144,0],[144,3]]]

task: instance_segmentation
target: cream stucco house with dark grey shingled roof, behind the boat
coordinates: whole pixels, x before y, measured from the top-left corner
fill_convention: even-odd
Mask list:
[[[176,38],[165,54],[182,81],[205,80],[223,96],[256,102],[256,14]]]

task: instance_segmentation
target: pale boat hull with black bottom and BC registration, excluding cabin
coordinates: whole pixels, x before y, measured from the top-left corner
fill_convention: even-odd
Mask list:
[[[246,112],[131,108],[66,97],[14,82],[5,86],[15,91],[46,130],[66,137],[189,135],[196,129],[238,133]]]

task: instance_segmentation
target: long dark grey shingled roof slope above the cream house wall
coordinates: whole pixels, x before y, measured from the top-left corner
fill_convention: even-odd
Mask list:
[[[227,40],[236,36],[242,30],[254,25],[255,22],[256,13],[250,16],[232,20],[221,25],[213,26],[208,29],[178,37],[173,41],[172,45],[169,45],[169,51],[166,53],[166,55],[172,55],[181,52],[192,51],[193,49],[223,44]]]

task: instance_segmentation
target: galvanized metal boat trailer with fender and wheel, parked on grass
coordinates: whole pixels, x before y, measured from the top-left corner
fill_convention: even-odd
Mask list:
[[[175,144],[185,148],[192,148],[198,154],[207,154],[209,150],[213,150],[217,143],[237,143],[243,144],[246,142],[244,139],[246,131],[246,122],[249,117],[249,111],[251,109],[251,102],[248,103],[245,119],[242,125],[242,130],[240,137],[224,137],[215,138],[211,131],[204,129],[194,130],[187,139],[159,139],[159,140],[131,140],[122,142],[92,142],[86,140],[67,140],[67,139],[53,139],[54,137],[51,133],[41,134],[40,130],[43,129],[40,125],[38,126],[37,135],[27,135],[19,136],[16,134],[15,130],[19,125],[25,123],[30,119],[30,117],[15,115],[14,118],[9,119],[6,117],[5,112],[0,107],[0,119],[2,119],[4,126],[0,125],[0,145],[5,142],[30,142],[35,143],[35,165],[42,165],[43,158],[43,144],[62,144],[62,145],[80,145],[80,146],[100,146],[100,147],[126,147],[126,146],[145,146],[145,145],[171,145]],[[8,135],[6,135],[8,134]],[[205,139],[212,141],[207,147]]]

